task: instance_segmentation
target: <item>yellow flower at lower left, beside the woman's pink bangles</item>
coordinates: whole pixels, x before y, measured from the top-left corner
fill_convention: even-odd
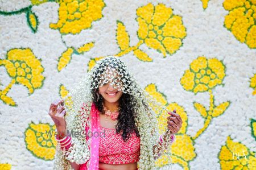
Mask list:
[[[27,150],[40,159],[53,160],[57,144],[55,128],[55,125],[49,123],[30,123],[24,132]]]

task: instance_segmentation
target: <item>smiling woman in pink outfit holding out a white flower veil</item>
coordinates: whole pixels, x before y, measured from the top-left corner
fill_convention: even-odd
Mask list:
[[[156,113],[168,115],[164,134]],[[48,114],[57,130],[54,169],[152,169],[157,159],[171,164],[161,155],[171,154],[182,125],[180,115],[152,98],[114,56],[98,61],[67,97],[51,103]]]

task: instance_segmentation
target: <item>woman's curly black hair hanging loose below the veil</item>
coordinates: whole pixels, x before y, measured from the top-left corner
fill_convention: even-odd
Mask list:
[[[95,103],[98,111],[100,113],[105,114],[104,108],[103,108],[103,102],[104,98],[100,95],[100,98],[97,101],[97,93],[98,88],[92,90],[93,94],[93,102]],[[119,98],[119,104],[118,104],[118,123],[115,125],[115,130],[117,133],[122,132],[122,138],[123,141],[126,142],[130,138],[130,134],[133,132],[136,133],[136,135],[139,137],[139,131],[137,126],[135,125],[135,117],[137,116],[137,110],[135,110],[135,106],[137,105],[137,102],[135,102],[135,99],[133,96],[131,96],[128,93],[123,93],[122,96]]]

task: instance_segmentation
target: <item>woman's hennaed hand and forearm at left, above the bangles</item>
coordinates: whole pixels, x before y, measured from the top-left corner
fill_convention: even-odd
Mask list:
[[[59,137],[64,138],[66,135],[67,126],[64,119],[64,116],[66,114],[66,110],[64,108],[64,101],[62,99],[57,99],[56,101],[52,102],[48,114],[55,123]]]

